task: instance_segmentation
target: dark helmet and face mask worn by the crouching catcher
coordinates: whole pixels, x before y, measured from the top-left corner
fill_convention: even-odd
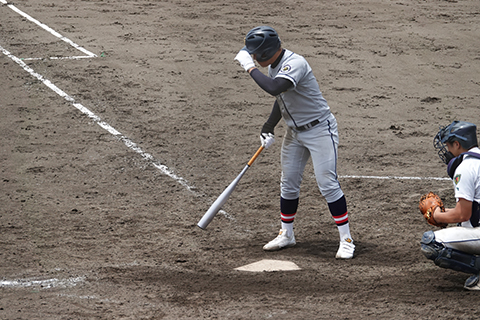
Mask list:
[[[477,147],[477,126],[470,122],[455,120],[448,126],[440,127],[433,139],[433,145],[435,149],[438,149],[440,159],[446,164],[453,158],[453,155],[449,154],[445,143],[453,141],[458,141],[467,150]]]

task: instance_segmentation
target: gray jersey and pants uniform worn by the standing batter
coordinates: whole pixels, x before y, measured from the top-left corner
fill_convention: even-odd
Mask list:
[[[328,203],[337,201],[343,191],[337,180],[337,121],[330,112],[312,68],[304,57],[285,49],[275,68],[269,66],[270,78],[284,78],[293,83],[276,96],[282,117],[288,125],[282,144],[281,196],[296,199],[300,194],[303,171],[311,157],[317,184]],[[318,121],[305,130],[298,127]]]

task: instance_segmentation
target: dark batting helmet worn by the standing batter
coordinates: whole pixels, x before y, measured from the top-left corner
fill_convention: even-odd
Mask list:
[[[272,58],[280,49],[280,38],[275,29],[269,26],[253,28],[245,37],[245,48],[249,54],[254,54],[258,62]]]

